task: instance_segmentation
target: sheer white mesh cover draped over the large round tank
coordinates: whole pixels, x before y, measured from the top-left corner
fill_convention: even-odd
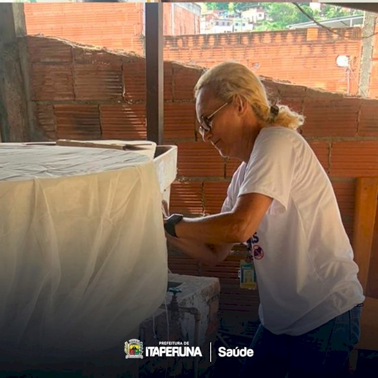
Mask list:
[[[0,144],[3,357],[122,346],[163,302],[158,179],[152,161],[133,155]]]

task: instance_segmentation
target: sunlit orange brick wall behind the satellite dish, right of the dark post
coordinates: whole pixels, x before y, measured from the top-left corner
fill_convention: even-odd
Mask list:
[[[261,76],[346,92],[347,74],[336,65],[336,57],[349,55],[353,69],[350,93],[357,93],[360,29],[338,29],[337,32],[341,36],[318,28],[166,36],[164,58],[204,67],[232,59]]]

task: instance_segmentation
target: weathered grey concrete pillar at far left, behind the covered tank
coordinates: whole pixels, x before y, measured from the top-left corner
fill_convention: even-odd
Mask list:
[[[0,134],[2,142],[31,140],[32,111],[24,5],[0,4]]]

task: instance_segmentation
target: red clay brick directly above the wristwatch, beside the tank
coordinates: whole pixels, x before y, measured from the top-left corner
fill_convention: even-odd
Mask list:
[[[170,213],[202,214],[203,188],[201,181],[181,182],[171,184]]]

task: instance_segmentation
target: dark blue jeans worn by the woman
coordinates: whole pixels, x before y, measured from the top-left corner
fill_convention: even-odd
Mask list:
[[[360,337],[361,306],[303,335],[275,335],[259,326],[240,377],[339,378]],[[287,375],[288,374],[288,375]]]

